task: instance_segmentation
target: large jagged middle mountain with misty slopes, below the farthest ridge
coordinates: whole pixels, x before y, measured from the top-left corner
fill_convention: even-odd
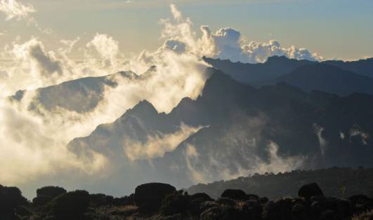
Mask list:
[[[207,71],[212,76],[196,100],[184,98],[169,114],[140,102],[114,123],[74,139],[70,149],[84,153],[88,147],[115,161],[112,191],[145,181],[185,187],[261,170],[373,166],[373,96],[308,93],[286,83],[255,89],[217,69]],[[164,156],[130,163],[123,153],[124,142],[131,140],[126,149],[154,144],[182,123],[203,128],[178,139]]]

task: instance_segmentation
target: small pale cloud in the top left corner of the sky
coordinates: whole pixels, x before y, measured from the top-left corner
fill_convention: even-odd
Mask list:
[[[13,18],[20,20],[27,18],[30,13],[34,13],[34,7],[28,5],[25,6],[16,0],[1,0],[0,1],[0,12],[6,15],[6,20]]]

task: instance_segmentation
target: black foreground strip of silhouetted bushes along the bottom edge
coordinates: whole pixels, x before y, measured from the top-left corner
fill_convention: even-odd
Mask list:
[[[113,198],[58,186],[37,189],[28,201],[16,187],[0,185],[0,219],[373,219],[373,198],[327,197],[316,183],[301,186],[298,197],[268,200],[240,189],[226,189],[214,200],[188,195],[162,183],[143,184],[135,193]]]

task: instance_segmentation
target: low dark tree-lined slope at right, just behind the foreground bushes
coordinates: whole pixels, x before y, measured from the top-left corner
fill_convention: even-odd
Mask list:
[[[293,170],[283,173],[252,174],[227,181],[197,184],[186,189],[188,193],[207,193],[218,198],[225,188],[241,189],[246,193],[258,193],[271,200],[293,197],[297,188],[309,182],[317,182],[328,196],[348,198],[351,195],[366,194],[373,196],[372,168],[331,167],[321,170]]]

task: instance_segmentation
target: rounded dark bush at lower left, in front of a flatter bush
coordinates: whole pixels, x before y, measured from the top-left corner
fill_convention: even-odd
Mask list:
[[[89,207],[89,193],[87,191],[68,192],[54,198],[49,205],[58,219],[79,219]]]

